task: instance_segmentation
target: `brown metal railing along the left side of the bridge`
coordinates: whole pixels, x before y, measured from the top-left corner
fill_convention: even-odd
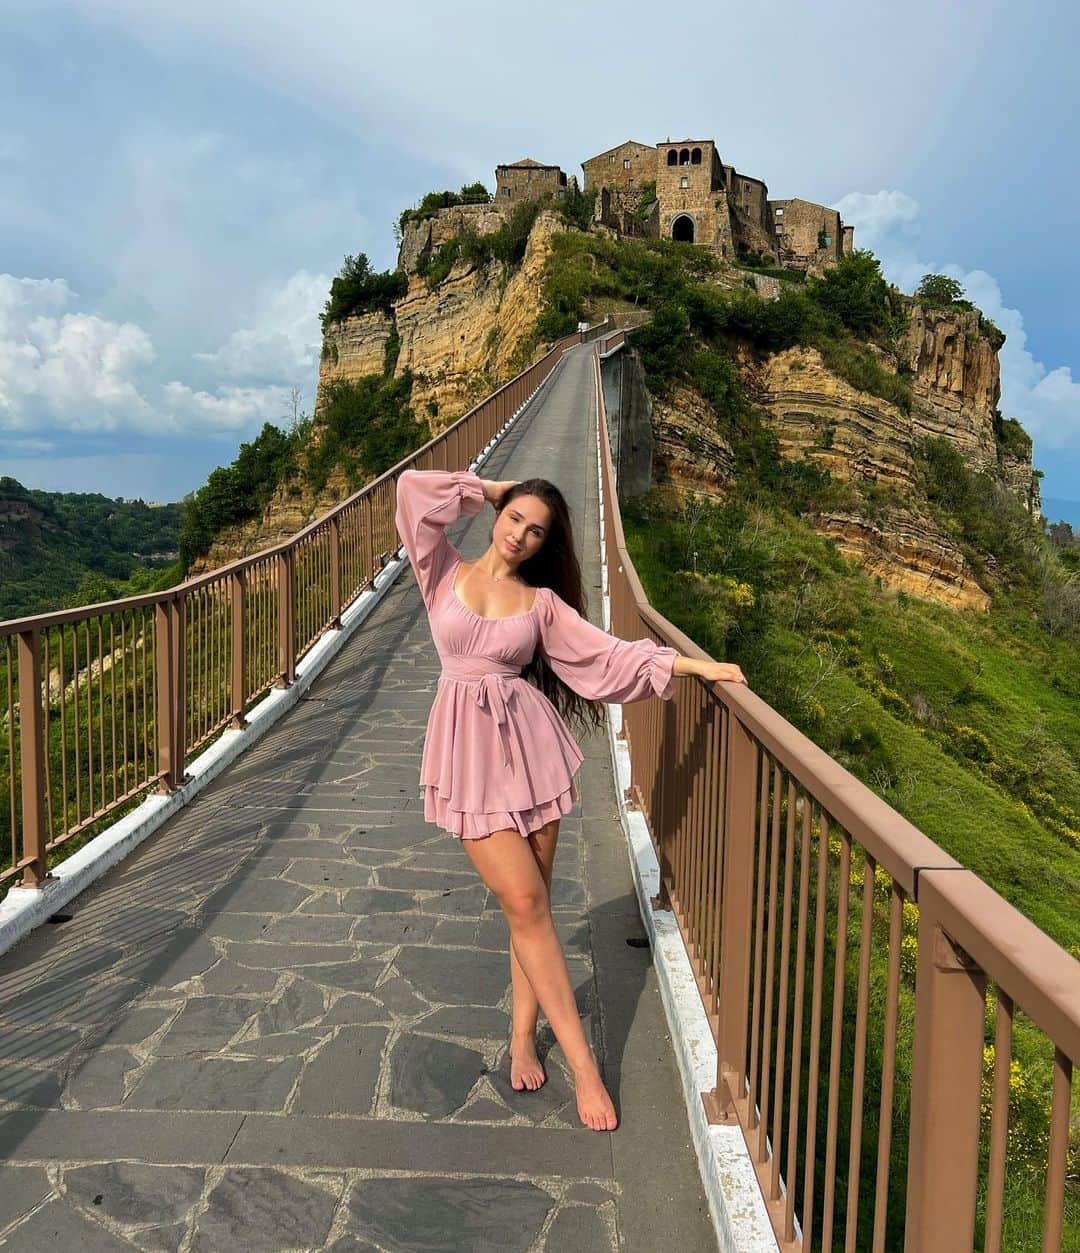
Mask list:
[[[397,476],[469,465],[536,391],[560,340],[398,465],[289,540],[167,591],[0,623],[0,891],[184,763],[297,662],[398,549]]]

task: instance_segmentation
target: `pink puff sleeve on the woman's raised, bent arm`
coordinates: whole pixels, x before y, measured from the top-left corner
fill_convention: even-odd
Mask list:
[[[393,524],[428,609],[439,580],[461,556],[445,529],[481,509],[484,489],[480,477],[469,470],[402,470],[397,476]]]

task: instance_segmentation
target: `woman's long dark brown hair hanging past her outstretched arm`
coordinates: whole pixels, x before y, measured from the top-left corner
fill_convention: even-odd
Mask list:
[[[551,514],[551,525],[548,528],[544,543],[532,556],[521,563],[517,568],[519,575],[532,588],[550,588],[585,618],[585,589],[574,544],[574,525],[570,521],[570,509],[565,496],[546,479],[522,479],[502,492],[496,511],[501,514],[515,496],[536,496]],[[600,702],[588,700],[568,687],[539,649],[521,672],[521,677],[540,688],[561,717],[578,723],[580,730],[599,730],[604,725]]]

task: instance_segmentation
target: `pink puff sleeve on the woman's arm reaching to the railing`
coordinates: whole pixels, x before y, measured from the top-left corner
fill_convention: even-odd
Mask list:
[[[626,640],[600,630],[550,588],[536,598],[539,649],[551,669],[589,700],[630,704],[675,693],[678,650],[652,639]]]

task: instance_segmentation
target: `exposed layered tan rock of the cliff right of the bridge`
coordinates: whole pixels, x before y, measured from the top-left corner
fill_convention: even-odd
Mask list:
[[[976,311],[910,309],[902,361],[911,371],[905,412],[858,391],[827,370],[814,348],[789,348],[762,363],[744,362],[744,382],[779,439],[782,455],[806,459],[856,486],[897,489],[893,504],[871,516],[843,511],[816,517],[888,586],[955,608],[986,609],[990,598],[956,544],[921,504],[915,450],[927,436],[950,440],[975,471],[997,475],[1037,516],[1039,480],[1030,456],[999,459],[994,419],[1001,395],[1000,332],[985,332]],[[654,407],[657,474],[697,491],[720,492],[734,460],[700,397],[677,388]]]

